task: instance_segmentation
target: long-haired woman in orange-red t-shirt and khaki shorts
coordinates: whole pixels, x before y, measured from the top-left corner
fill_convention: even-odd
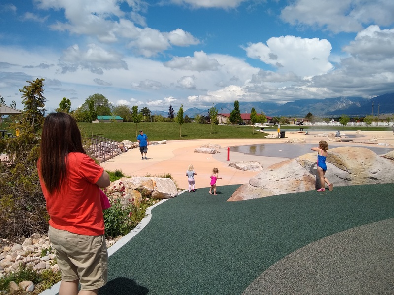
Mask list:
[[[37,166],[50,216],[48,236],[62,273],[59,295],[97,294],[107,282],[99,187],[110,184],[109,175],[86,155],[78,126],[66,113],[45,118]]]

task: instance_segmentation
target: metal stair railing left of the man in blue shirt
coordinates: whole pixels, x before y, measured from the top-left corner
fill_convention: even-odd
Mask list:
[[[119,144],[121,143],[118,141],[101,136],[88,137],[87,140],[86,152],[99,162],[105,162],[120,154]]]

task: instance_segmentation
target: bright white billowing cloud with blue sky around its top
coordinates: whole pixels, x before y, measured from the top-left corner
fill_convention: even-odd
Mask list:
[[[328,61],[331,44],[326,39],[272,37],[267,45],[262,42],[249,43],[243,49],[252,59],[260,59],[282,72],[291,71],[299,76],[321,75],[332,69]]]

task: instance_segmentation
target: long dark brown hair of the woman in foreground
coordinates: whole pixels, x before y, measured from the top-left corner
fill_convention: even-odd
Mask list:
[[[66,113],[51,113],[44,121],[40,149],[40,170],[50,194],[60,191],[67,178],[70,152],[86,154],[75,119]]]

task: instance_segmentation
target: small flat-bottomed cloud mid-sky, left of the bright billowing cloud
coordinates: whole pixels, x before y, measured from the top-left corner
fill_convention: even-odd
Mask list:
[[[203,51],[195,51],[193,57],[175,57],[164,63],[164,66],[172,69],[190,71],[216,71],[220,66],[216,59],[211,59]]]

